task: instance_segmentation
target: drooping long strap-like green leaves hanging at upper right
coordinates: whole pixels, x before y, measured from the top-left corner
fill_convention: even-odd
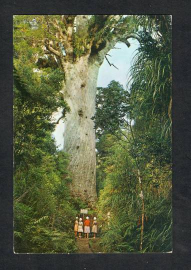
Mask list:
[[[171,135],[171,20],[168,15],[137,16],[142,27],[140,46],[130,68],[131,118],[135,127],[147,131],[161,128]]]

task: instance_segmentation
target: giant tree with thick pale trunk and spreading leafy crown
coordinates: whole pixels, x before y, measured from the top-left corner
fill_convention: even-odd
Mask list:
[[[133,16],[18,15],[14,17],[14,34],[36,48],[33,58],[39,67],[57,65],[63,71],[62,93],[70,107],[64,127],[64,151],[70,154],[71,190],[93,205],[96,161],[91,118],[95,113],[98,69],[116,42],[129,46],[128,38],[138,38]],[[108,64],[114,65],[108,58]]]

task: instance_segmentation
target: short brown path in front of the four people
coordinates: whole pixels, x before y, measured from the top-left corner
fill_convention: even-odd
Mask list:
[[[94,249],[94,246],[96,246],[96,242],[99,240],[99,238],[76,238],[76,245],[78,248],[78,253],[94,253],[97,252],[96,249]]]

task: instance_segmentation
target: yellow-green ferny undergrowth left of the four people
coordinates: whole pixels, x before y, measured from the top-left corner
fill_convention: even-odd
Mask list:
[[[19,167],[14,174],[15,252],[74,252],[72,219],[76,210],[67,183],[64,152],[43,153],[41,165]],[[63,162],[64,160],[64,162]],[[27,163],[30,156],[27,157]]]

